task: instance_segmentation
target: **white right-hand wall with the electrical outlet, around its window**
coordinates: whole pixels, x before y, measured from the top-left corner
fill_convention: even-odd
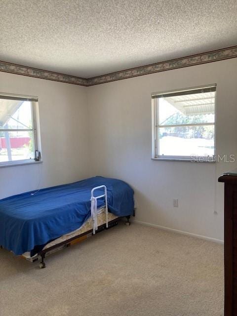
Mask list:
[[[139,221],[223,239],[224,191],[217,179],[237,163],[151,160],[151,93],[212,83],[217,154],[237,155],[237,59],[230,59],[88,87],[88,175],[128,182]]]

